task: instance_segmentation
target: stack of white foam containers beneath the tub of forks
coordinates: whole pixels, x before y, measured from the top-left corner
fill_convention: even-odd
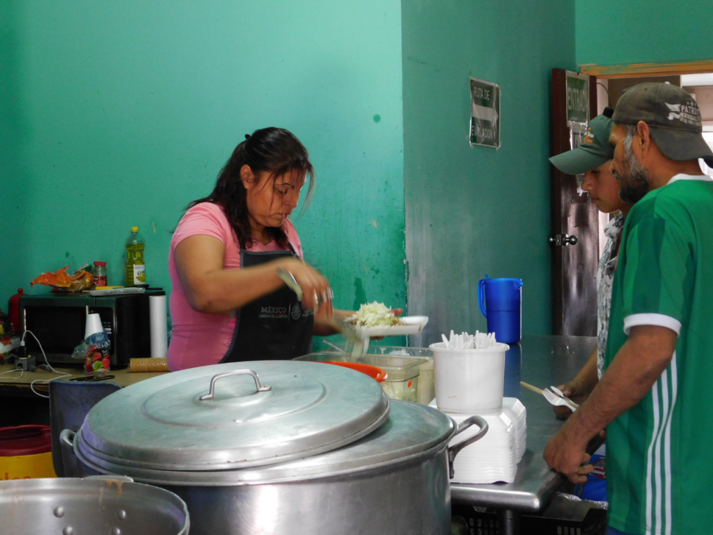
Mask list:
[[[435,402],[431,403],[436,406]],[[446,413],[457,424],[461,424],[473,414]],[[506,397],[503,408],[481,412],[478,416],[488,422],[485,437],[461,449],[453,463],[455,476],[453,483],[486,484],[515,481],[517,464],[525,453],[525,407],[519,399]],[[478,432],[478,427],[453,437],[449,444],[453,446]]]

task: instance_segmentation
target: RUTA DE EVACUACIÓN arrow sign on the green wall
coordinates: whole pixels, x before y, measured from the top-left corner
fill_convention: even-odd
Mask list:
[[[500,148],[500,86],[471,78],[471,146]]]

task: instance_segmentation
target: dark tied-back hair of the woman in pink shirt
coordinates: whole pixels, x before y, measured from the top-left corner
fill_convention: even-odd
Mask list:
[[[221,205],[227,220],[235,230],[240,247],[247,248],[248,245],[252,245],[253,239],[247,216],[247,190],[240,179],[240,169],[243,165],[250,165],[255,175],[267,172],[272,178],[293,171],[309,175],[309,188],[302,211],[307,208],[312,199],[314,168],[309,162],[307,149],[291,132],[284,128],[261,128],[253,132],[252,136],[246,134],[245,141],[235,147],[225,167],[218,173],[212,193],[202,199],[194,200],[185,207],[188,210],[198,203]],[[287,235],[282,227],[268,227],[267,233],[280,248],[287,248]]]

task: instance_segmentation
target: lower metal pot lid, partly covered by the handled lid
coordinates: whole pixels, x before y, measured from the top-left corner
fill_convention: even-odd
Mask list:
[[[124,474],[136,481],[159,485],[226,486],[301,481],[388,467],[440,451],[455,432],[451,418],[438,409],[392,399],[389,419],[366,437],[331,452],[266,467],[220,472],[126,467],[96,457],[83,443],[81,431],[77,433],[74,447],[82,462],[98,472]]]

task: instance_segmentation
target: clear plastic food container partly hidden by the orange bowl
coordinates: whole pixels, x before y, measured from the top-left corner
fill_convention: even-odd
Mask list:
[[[384,354],[381,353],[382,349],[384,350]],[[386,379],[380,384],[387,396],[391,399],[416,402],[416,390],[419,387],[419,374],[421,372],[420,366],[424,360],[405,354],[409,350],[414,349],[416,348],[374,346],[369,347],[369,352],[358,355],[356,358],[352,358],[350,353],[335,351],[310,353],[303,357],[297,357],[295,360],[311,360],[314,362],[334,360],[337,362],[356,362],[379,367],[386,372]],[[428,351],[423,348],[418,349]],[[392,352],[401,350],[404,355],[389,355],[387,350],[392,350]]]

